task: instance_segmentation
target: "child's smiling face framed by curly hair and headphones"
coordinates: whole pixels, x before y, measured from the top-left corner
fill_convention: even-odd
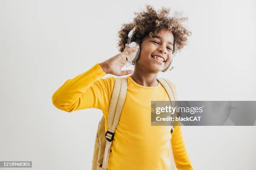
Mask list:
[[[135,67],[147,72],[160,72],[168,67],[172,60],[174,36],[167,29],[161,30],[158,36],[147,35],[140,45],[140,56]]]

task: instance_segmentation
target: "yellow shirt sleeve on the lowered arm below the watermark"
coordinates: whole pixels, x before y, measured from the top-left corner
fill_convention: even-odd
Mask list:
[[[174,126],[171,138],[174,162],[178,170],[193,170],[186,146],[183,141],[181,126]]]

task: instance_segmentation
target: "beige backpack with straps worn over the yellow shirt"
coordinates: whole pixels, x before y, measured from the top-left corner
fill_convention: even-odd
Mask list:
[[[166,90],[170,101],[177,100],[177,93],[174,84],[167,79],[157,78],[160,84]],[[115,128],[118,125],[119,118],[123,109],[127,92],[127,78],[115,77],[115,85],[110,100],[108,112],[108,130],[105,132],[105,117],[102,116],[95,138],[94,153],[92,159],[92,170],[107,170],[110,148],[115,134]],[[172,126],[171,133],[174,130]],[[170,142],[171,143],[171,142]],[[171,153],[172,153],[172,146]],[[171,156],[171,170],[175,170],[173,154]]]

